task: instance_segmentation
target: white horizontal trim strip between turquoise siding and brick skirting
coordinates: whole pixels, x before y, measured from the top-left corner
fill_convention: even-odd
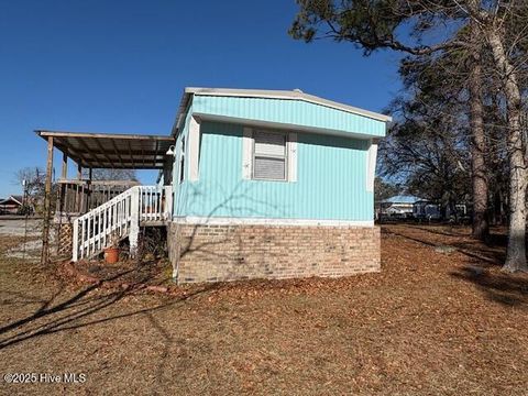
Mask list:
[[[197,226],[374,227],[374,220],[264,219],[198,216],[175,217],[173,222]]]

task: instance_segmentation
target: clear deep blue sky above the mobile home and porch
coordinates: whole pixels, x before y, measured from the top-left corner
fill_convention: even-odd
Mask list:
[[[0,197],[20,193],[16,169],[45,165],[33,130],[168,134],[186,86],[385,108],[397,55],[294,41],[296,12],[294,0],[0,0]]]

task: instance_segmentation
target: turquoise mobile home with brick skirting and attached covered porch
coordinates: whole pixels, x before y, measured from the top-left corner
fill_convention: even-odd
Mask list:
[[[380,271],[373,189],[389,121],[299,90],[187,88],[172,136],[37,132],[79,168],[161,172],[157,186],[91,210],[74,196],[74,260],[116,233],[133,254],[139,228],[162,224],[174,276],[188,283]],[[91,188],[63,172],[65,190]]]

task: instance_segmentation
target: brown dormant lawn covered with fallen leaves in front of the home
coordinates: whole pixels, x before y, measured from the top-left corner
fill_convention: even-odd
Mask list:
[[[0,372],[87,376],[0,393],[527,395],[528,277],[499,272],[504,238],[382,235],[380,274],[182,296],[74,285],[0,253]]]

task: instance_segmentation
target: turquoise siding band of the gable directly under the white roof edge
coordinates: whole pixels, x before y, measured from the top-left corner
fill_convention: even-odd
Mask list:
[[[364,116],[301,100],[195,95],[197,113],[278,122],[307,128],[384,136],[386,124]]]

